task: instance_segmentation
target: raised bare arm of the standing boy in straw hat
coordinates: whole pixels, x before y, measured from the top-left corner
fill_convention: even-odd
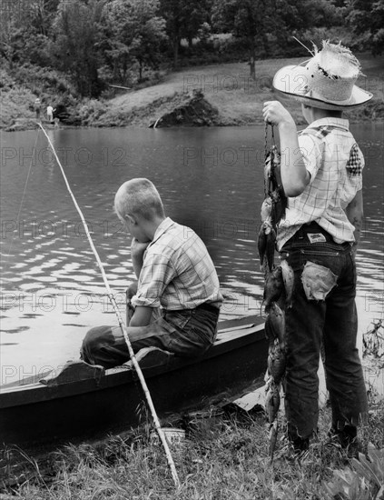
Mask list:
[[[289,111],[279,101],[264,103],[266,122],[279,127],[281,145],[281,181],[287,196],[298,196],[310,182],[310,174],[300,152],[297,129]]]

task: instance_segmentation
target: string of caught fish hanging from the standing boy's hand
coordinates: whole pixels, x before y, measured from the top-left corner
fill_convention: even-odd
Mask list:
[[[271,126],[271,146],[268,146],[268,127]],[[279,432],[278,412],[281,386],[286,367],[285,309],[291,307],[293,270],[283,259],[275,265],[275,246],[279,223],[285,218],[287,196],[281,183],[281,154],[275,144],[273,125],[265,124],[264,136],[264,201],[261,205],[261,228],[258,250],[264,273],[263,302],[267,319],[265,335],[269,341],[268,367],[265,375],[265,409],[270,425],[270,458]]]

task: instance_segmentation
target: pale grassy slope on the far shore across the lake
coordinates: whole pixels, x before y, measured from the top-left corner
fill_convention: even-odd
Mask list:
[[[374,94],[369,105],[350,112],[352,122],[384,119],[384,62],[380,57],[359,55],[365,76],[358,84]],[[251,125],[261,123],[261,108],[271,93],[272,77],[281,65],[296,64],[302,58],[265,59],[256,64],[256,80],[249,76],[245,63],[206,65],[183,69],[163,77],[162,82],[146,88],[128,91],[110,99],[88,100],[74,103],[71,113],[77,123],[84,126],[148,126],[165,113],[170,113],[185,93],[201,90],[219,115],[215,125]],[[51,95],[54,99],[54,95]],[[31,104],[33,93],[27,87],[2,93],[0,127],[9,129],[31,128],[34,114]],[[300,106],[287,105],[299,124],[302,124]]]

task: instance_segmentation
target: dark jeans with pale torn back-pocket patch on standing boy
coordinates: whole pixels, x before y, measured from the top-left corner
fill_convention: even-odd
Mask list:
[[[308,237],[308,233],[315,235]],[[368,409],[356,347],[356,265],[351,246],[336,244],[312,223],[290,238],[281,249],[281,258],[287,259],[295,276],[293,304],[285,312],[290,439],[305,439],[317,430],[322,346],[332,427],[341,430],[344,425],[358,425]]]

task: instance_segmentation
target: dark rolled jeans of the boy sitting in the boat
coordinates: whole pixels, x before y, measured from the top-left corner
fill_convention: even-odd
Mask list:
[[[174,355],[203,355],[217,335],[219,309],[162,310],[148,326],[129,326],[128,337],[136,353],[143,347],[159,347]],[[120,326],[96,326],[84,337],[80,357],[90,365],[105,368],[123,365],[130,359]]]

